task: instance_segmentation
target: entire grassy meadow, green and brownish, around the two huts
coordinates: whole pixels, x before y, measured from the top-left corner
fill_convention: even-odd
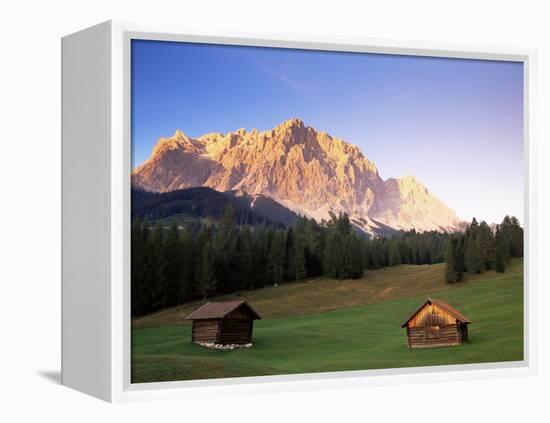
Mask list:
[[[210,350],[193,344],[183,316],[200,303],[132,323],[132,382],[488,363],[523,359],[523,261],[457,284],[443,264],[397,266],[362,279],[308,280],[243,292],[263,319],[253,347]],[[404,320],[428,296],[470,318],[461,346],[408,349]],[[235,298],[225,296],[213,300]]]

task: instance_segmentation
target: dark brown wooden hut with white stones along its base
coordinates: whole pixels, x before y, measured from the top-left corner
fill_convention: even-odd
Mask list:
[[[238,300],[206,303],[185,319],[193,321],[193,342],[248,344],[253,322],[261,317],[246,300]]]

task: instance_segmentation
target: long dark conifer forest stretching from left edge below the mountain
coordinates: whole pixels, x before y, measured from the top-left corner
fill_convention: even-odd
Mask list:
[[[321,223],[300,217],[286,229],[238,225],[231,206],[215,224],[134,219],[131,231],[134,316],[309,277],[353,279],[367,269],[441,263],[449,237],[413,230],[367,239],[345,214]]]

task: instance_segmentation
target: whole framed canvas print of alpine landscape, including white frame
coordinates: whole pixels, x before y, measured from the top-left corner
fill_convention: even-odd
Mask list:
[[[534,52],[117,22],[62,47],[64,384],[534,371]]]

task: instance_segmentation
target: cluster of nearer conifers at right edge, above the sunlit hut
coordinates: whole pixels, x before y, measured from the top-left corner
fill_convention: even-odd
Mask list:
[[[523,228],[506,216],[494,231],[474,218],[464,233],[449,236],[445,254],[445,279],[460,282],[465,274],[486,270],[504,272],[512,257],[523,257]]]

